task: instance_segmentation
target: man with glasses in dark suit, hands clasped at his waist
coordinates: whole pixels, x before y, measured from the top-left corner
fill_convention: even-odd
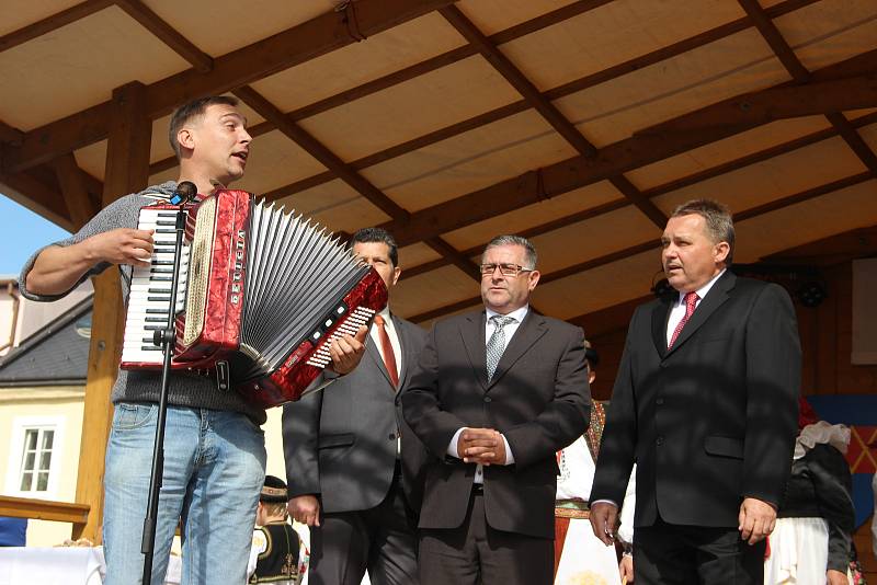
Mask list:
[[[538,280],[527,240],[494,238],[481,257],[486,310],[433,326],[402,394],[433,456],[423,585],[551,583],[555,454],[585,431],[591,398],[581,329],[529,309]]]

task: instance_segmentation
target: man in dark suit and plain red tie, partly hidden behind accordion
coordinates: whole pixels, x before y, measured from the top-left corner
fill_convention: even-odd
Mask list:
[[[396,241],[368,228],[353,252],[399,279]],[[426,451],[405,424],[406,388],[425,341],[421,328],[390,313],[375,317],[360,367],[331,392],[284,406],[283,443],[289,514],[310,526],[311,585],[417,583],[417,514]]]

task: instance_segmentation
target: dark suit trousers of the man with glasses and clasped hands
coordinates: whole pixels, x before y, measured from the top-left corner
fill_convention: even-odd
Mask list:
[[[422,585],[535,585],[553,581],[554,541],[488,526],[480,489],[472,489],[459,528],[421,530]]]

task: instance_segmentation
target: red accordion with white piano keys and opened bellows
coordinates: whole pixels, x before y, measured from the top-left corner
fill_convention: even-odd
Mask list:
[[[145,207],[155,229],[149,268],[135,268],[122,367],[160,368],[152,331],[167,323],[175,208]],[[228,368],[262,406],[298,399],[330,359],[328,346],[368,325],[387,302],[380,276],[326,228],[244,191],[217,191],[187,216],[173,368]]]

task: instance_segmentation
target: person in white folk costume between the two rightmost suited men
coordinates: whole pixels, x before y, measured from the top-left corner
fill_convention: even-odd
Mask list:
[[[584,348],[588,382],[593,383],[600,356],[591,342],[585,341]],[[555,507],[555,585],[620,583],[615,550],[603,546],[586,521],[588,498],[591,496],[595,461],[605,423],[604,405],[593,401],[588,432],[570,446],[557,451],[560,474],[557,478]],[[627,501],[625,504],[624,509],[627,511],[630,504]],[[625,519],[627,518],[623,511],[622,521]],[[631,520],[633,518],[628,519]]]

